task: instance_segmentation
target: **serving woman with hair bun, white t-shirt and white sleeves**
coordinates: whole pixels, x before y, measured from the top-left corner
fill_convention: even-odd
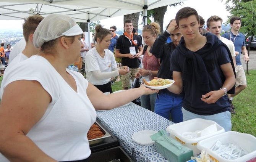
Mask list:
[[[100,24],[95,27],[96,47],[85,57],[86,79],[102,92],[112,93],[110,79],[128,73],[128,69],[118,69],[113,53],[108,50],[111,33]]]

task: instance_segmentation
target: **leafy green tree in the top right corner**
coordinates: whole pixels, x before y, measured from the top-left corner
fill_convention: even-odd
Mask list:
[[[233,5],[228,5],[229,2],[232,2]],[[238,16],[241,18],[240,32],[245,34],[246,37],[251,36],[251,38],[253,38],[256,33],[256,0],[226,0],[226,9],[232,16]],[[227,22],[230,21],[232,16],[229,17]],[[250,46],[248,48],[248,56],[250,57]],[[249,61],[246,63],[247,74],[249,74],[248,63]]]

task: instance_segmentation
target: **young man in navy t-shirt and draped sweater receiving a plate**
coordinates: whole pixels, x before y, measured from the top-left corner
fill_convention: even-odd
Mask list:
[[[194,8],[182,8],[175,19],[183,37],[172,53],[170,69],[175,83],[168,90],[179,94],[184,88],[183,121],[213,120],[225,131],[230,131],[227,92],[234,93],[235,89],[235,68],[230,51],[216,35],[200,34],[199,17]]]

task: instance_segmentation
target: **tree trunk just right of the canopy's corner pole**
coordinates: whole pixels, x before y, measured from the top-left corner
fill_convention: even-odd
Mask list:
[[[164,27],[163,27],[163,24],[164,24],[164,14],[167,10],[167,6],[162,6],[162,7],[159,7],[159,8],[155,8],[153,9],[154,10],[154,22],[158,22],[159,25],[160,25],[160,32],[164,32]]]

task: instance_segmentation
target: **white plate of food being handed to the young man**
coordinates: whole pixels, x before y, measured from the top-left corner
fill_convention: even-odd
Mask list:
[[[152,79],[151,81],[147,82],[143,79],[143,82],[147,88],[152,90],[162,90],[172,86],[175,81],[172,79]]]

